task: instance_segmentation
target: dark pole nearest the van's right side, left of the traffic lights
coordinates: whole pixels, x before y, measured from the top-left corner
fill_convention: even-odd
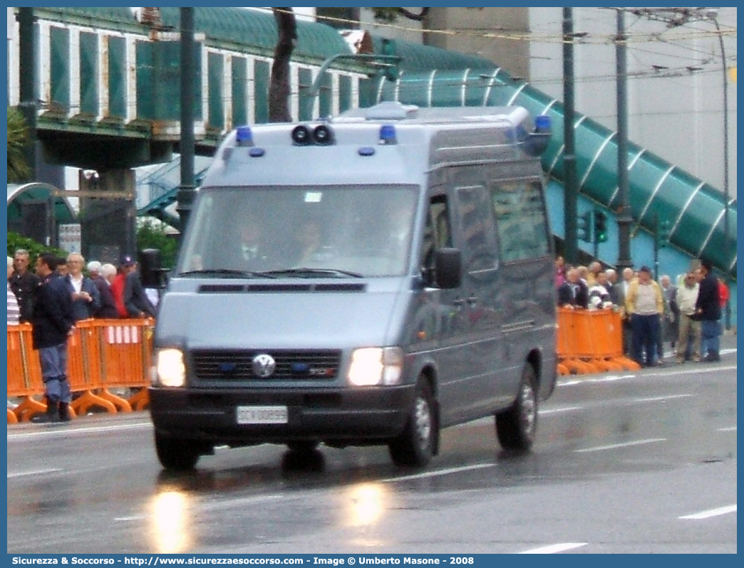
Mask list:
[[[565,229],[565,261],[576,265],[577,241],[577,178],[574,149],[574,9],[563,8],[563,227]]]

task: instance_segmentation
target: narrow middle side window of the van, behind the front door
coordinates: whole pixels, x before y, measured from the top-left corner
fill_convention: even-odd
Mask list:
[[[496,222],[488,191],[482,185],[458,187],[457,196],[466,271],[496,268],[498,266]]]

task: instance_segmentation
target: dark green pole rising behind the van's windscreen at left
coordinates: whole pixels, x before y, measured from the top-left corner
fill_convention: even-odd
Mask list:
[[[196,193],[193,176],[193,7],[181,10],[181,185],[178,192],[181,237]]]

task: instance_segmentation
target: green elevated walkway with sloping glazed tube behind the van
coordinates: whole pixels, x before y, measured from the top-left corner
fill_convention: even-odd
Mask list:
[[[206,85],[197,97],[197,116],[204,132],[197,142],[205,154],[223,132],[237,123],[265,122],[268,117],[270,63],[276,40],[276,25],[269,11],[242,8],[196,7],[196,33],[199,67],[195,88]],[[50,73],[45,106],[39,110],[39,138],[56,149],[60,163],[94,167],[74,160],[75,152],[93,155],[111,167],[165,161],[178,143],[179,97],[174,96],[178,59],[174,50],[179,30],[179,8],[164,7],[158,30],[138,22],[129,8],[117,7],[36,7],[36,28],[49,31]],[[168,33],[173,35],[168,36]],[[158,39],[151,39],[150,35]],[[158,35],[160,34],[160,35]],[[39,36],[41,34],[39,33]],[[39,40],[42,40],[39,37]],[[153,43],[158,43],[154,47]],[[94,47],[106,58],[90,53]],[[369,106],[378,100],[398,98],[421,106],[498,106],[519,104],[530,114],[549,114],[554,137],[543,157],[543,166],[555,180],[562,180],[562,104],[527,83],[513,80],[496,65],[481,57],[455,54],[446,50],[394,40],[385,42],[373,36],[376,53],[403,57],[397,83],[380,78],[367,79],[369,68],[339,63],[333,71],[338,79],[333,91],[329,83],[321,88],[318,108],[327,112],[335,104],[344,110],[359,102]],[[136,60],[132,61],[132,52]],[[298,21],[298,42],[293,54],[295,93],[298,109],[304,109],[313,71],[328,57],[350,53],[346,42],[330,26]],[[77,60],[75,60],[77,59]],[[228,60],[231,76],[227,74]],[[135,68],[138,100],[130,100],[127,88],[130,70]],[[220,72],[222,70],[222,72]],[[73,81],[71,74],[80,77]],[[105,74],[106,80],[91,85],[88,79]],[[83,81],[83,79],[85,79]],[[252,82],[250,81],[252,79]],[[219,81],[219,84],[213,84]],[[73,92],[73,85],[80,85]],[[105,91],[105,92],[102,92]],[[353,99],[359,92],[359,100]],[[225,93],[233,99],[228,116]],[[103,95],[106,96],[103,96]],[[147,96],[143,97],[143,94]],[[11,97],[12,100],[13,97]],[[102,108],[100,101],[106,101]],[[333,104],[332,104],[333,103]],[[132,112],[136,109],[136,112]],[[128,114],[129,113],[129,114]],[[298,116],[310,118],[307,114]],[[580,192],[610,211],[618,206],[617,142],[609,129],[577,114],[574,126],[577,143],[577,170]],[[107,159],[119,161],[112,165]],[[126,158],[126,160],[125,160]],[[123,161],[124,160],[124,161]],[[632,216],[641,230],[650,230],[654,216],[672,221],[670,242],[693,257],[705,257],[721,271],[736,277],[734,246],[725,255],[722,194],[645,149],[629,143],[629,201]],[[728,204],[729,226],[737,226],[737,204]]]

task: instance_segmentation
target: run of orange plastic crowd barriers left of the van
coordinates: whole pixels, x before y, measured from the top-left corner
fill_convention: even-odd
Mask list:
[[[73,395],[71,416],[92,407],[106,412],[144,410],[155,321],[82,320],[68,340],[68,381]],[[39,353],[33,350],[31,324],[7,326],[7,396],[22,400],[7,410],[8,424],[28,422],[44,413],[44,384]],[[112,389],[136,390],[127,398]]]

